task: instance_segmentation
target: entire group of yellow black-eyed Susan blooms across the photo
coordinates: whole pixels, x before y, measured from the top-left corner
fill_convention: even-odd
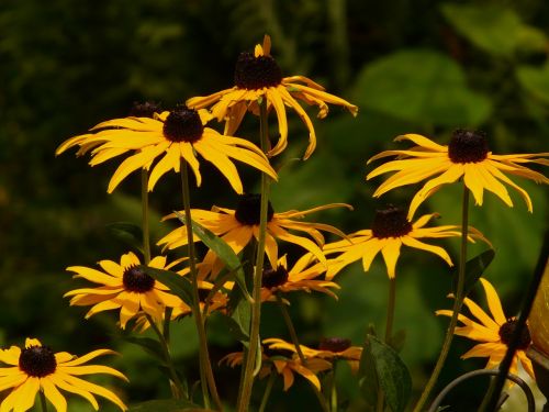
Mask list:
[[[466,190],[472,192],[478,205],[482,205],[485,189],[511,207],[513,203],[505,183],[519,192],[531,212],[533,204],[528,193],[507,175],[538,183],[549,182],[544,175],[526,166],[547,165],[547,153],[494,155],[482,133],[464,130],[456,131],[447,146],[422,135],[406,134],[396,141],[410,141],[414,146],[382,152],[370,158],[369,163],[395,157],[370,171],[367,179],[394,172],[376,190],[374,197],[405,185],[426,181],[414,196],[407,211],[394,207],[379,210],[369,229],[345,234],[332,225],[304,219],[311,213],[330,208],[352,209],[348,204],[332,203],[303,211],[278,212],[268,203],[266,232],[261,234],[261,194],[245,190],[234,160],[244,163],[276,181],[278,175],[270,159],[281,154],[288,145],[287,108],[293,109],[309,130],[309,146],[304,159],[313,154],[316,135],[313,123],[300,102],[316,105],[320,119],[328,114],[327,103],[341,105],[352,115],[358,113],[356,105],[326,92],[322,86],[305,77],[283,77],[270,49],[270,38],[266,36],[261,45],[256,45],[254,53],[240,54],[235,69],[235,86],[229,89],[188,99],[186,104],[171,111],[163,111],[153,103],[136,104],[127,118],[99,123],[89,133],[63,143],[56,154],[78,147],[77,155],[91,154],[91,166],[125,156],[112,175],[109,193],[136,170],[141,170],[146,177],[144,192],[147,193],[153,191],[158,180],[169,170],[180,172],[187,165],[193,171],[197,186],[201,186],[201,160],[211,163],[239,194],[238,203],[235,209],[190,209],[189,218],[220,237],[236,255],[250,245],[261,242],[265,244],[268,264],[261,268],[260,301],[278,301],[283,314],[287,314],[284,311],[288,301],[283,297],[287,292],[317,291],[336,298],[335,291],[339,289],[338,283],[334,281],[336,275],[356,260],[361,259],[366,272],[374,257],[381,253],[388,277],[391,285],[394,285],[396,264],[403,245],[435,254],[452,266],[450,256],[442,247],[425,243],[425,240],[460,237],[464,234],[470,242],[481,240],[490,244],[480,231],[467,227],[467,224],[464,227],[429,225],[433,218],[437,216],[436,213],[424,214],[414,220],[422,203],[444,185],[462,178]],[[276,144],[266,151],[245,138],[234,136],[246,113],[259,115],[261,108],[265,108],[267,113],[274,112],[279,131]],[[210,126],[213,121],[224,123],[223,133]],[[186,211],[177,214],[184,216]],[[166,219],[175,216],[176,214],[171,214]],[[163,246],[164,250],[191,247],[189,243],[200,242],[201,237],[189,233],[190,229],[190,224],[181,225],[158,240],[157,245]],[[144,232],[148,234],[146,227]],[[340,240],[326,243],[323,232],[339,236]],[[304,250],[293,265],[289,264],[287,255],[280,256],[280,242],[292,243]],[[148,240],[145,243],[148,244]],[[155,279],[145,269],[148,267],[175,271],[188,279],[189,274],[194,270],[194,261],[191,263],[193,259],[189,253],[189,257],[168,261],[163,255],[152,258],[150,250],[145,250],[143,257],[128,252],[120,257],[120,261],[100,260],[99,269],[70,266],[67,270],[74,272],[75,277],[96,286],[75,289],[65,296],[70,298],[71,305],[90,307],[86,318],[103,311],[119,311],[120,327],[125,329],[130,321],[135,321],[136,331],[153,327],[161,339],[161,325],[170,319],[191,314],[208,318],[214,311],[226,314],[232,310],[231,291],[236,282],[227,278],[219,286],[219,277],[221,274],[226,276],[227,270],[225,261],[214,249],[209,249],[200,261],[197,261],[198,277],[191,278],[200,298],[197,302],[198,312],[175,293],[167,282]],[[182,267],[173,269],[179,266]],[[466,298],[464,304],[480,323],[459,314],[458,320],[463,325],[456,330],[456,334],[480,342],[463,357],[486,356],[490,358],[488,367],[494,367],[505,354],[515,320],[504,315],[492,285],[485,279],[481,279],[481,282],[486,292],[492,318]],[[394,310],[394,307],[391,310]],[[458,315],[449,310],[438,311],[437,314]],[[389,325],[388,330],[390,331]],[[391,339],[390,332],[386,339]],[[354,370],[358,368],[362,347],[352,346],[348,339],[326,338],[320,343],[318,348],[300,345],[296,336],[292,336],[292,341],[288,343],[280,338],[262,339],[262,345],[259,346],[259,357],[262,357],[259,377],[281,375],[283,388],[288,390],[293,383],[294,374],[298,374],[321,392],[317,375],[330,370],[338,359],[348,361]],[[525,355],[528,344],[529,338],[526,338],[517,352],[516,359],[533,375],[531,363]],[[98,403],[93,393],[109,399],[121,410],[126,410],[113,392],[76,377],[83,374],[110,374],[125,379],[121,372],[107,366],[83,366],[86,361],[99,355],[111,353],[100,349],[77,358],[67,353],[54,354],[37,339],[27,339],[23,349],[12,346],[0,350],[0,361],[8,365],[0,368],[0,391],[12,389],[2,401],[0,412],[31,409],[38,392],[45,396],[57,411],[65,411],[67,403],[58,389],[83,397],[96,409]],[[227,355],[223,361],[235,366],[244,359],[245,353],[239,352]],[[515,360],[512,371],[516,369]],[[208,374],[206,377],[209,381],[213,380]],[[177,387],[177,374],[170,379]],[[214,392],[210,387],[212,397],[216,396]]]

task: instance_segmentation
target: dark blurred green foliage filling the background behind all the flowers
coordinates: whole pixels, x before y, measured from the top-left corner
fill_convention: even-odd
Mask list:
[[[132,102],[159,101],[171,108],[187,98],[232,86],[233,67],[269,33],[273,56],[287,75],[305,75],[360,107],[357,119],[333,108],[315,122],[318,147],[306,163],[296,160],[306,130],[290,122],[290,146],[274,159],[282,167],[272,187],[276,210],[348,202],[354,212],[327,211],[314,220],[346,232],[369,227],[376,208],[402,204],[417,187],[371,194],[380,180],[365,181],[366,160],[399,147],[392,138],[423,133],[446,144],[456,127],[481,129],[495,153],[547,151],[549,134],[549,3],[542,0],[3,0],[0,3],[0,345],[36,336],[57,350],[75,354],[113,347],[114,364],[132,379],[121,386],[131,402],[169,397],[152,358],[124,343],[112,313],[83,320],[63,293],[76,281],[71,265],[119,259],[126,246],[110,235],[116,221],[139,223],[139,178],[114,194],[107,182],[117,162],[91,169],[71,154],[55,158],[57,145],[107,119],[126,115]],[[315,113],[311,112],[312,115]],[[257,119],[239,135],[257,140]],[[272,130],[272,135],[276,135]],[[193,192],[195,207],[233,208],[235,194],[208,165],[204,183]],[[244,168],[240,168],[244,170]],[[248,191],[255,177],[244,171]],[[516,179],[518,182],[518,179]],[[178,177],[163,180],[152,196],[153,234],[171,226],[160,216],[181,209]],[[516,312],[533,271],[547,224],[544,188],[520,181],[531,194],[529,214],[515,193],[508,209],[489,194],[472,208],[472,224],[496,250],[485,276],[500,290],[508,314]],[[458,188],[445,188],[423,212],[437,211],[440,224],[459,222]],[[457,241],[445,244],[457,260]],[[471,247],[470,256],[485,248]],[[294,254],[294,249],[288,249]],[[395,329],[406,334],[402,357],[423,388],[439,350],[447,320],[434,311],[449,308],[448,268],[436,257],[403,250],[397,268]],[[291,313],[302,343],[323,336],[352,338],[360,345],[372,324],[382,333],[388,280],[377,261],[365,275],[359,264],[337,280],[339,301],[295,294]],[[79,283],[80,285],[80,283]],[[475,294],[482,297],[482,294]],[[192,323],[173,331],[175,353],[192,382],[198,377]],[[262,336],[289,338],[276,308],[267,305]],[[216,363],[238,345],[223,324],[211,320]],[[471,346],[457,338],[440,385],[483,361],[462,361]],[[225,399],[234,400],[238,371],[219,369]],[[363,410],[350,370],[340,369],[340,398]],[[258,393],[264,386],[257,386]],[[281,392],[281,382],[276,390]],[[455,392],[463,410],[481,396],[479,386]],[[298,379],[284,396],[271,398],[272,411],[314,410],[316,400]],[[90,410],[72,400],[75,411]],[[72,410],[72,409],[71,409]],[[105,408],[109,410],[109,407]]]

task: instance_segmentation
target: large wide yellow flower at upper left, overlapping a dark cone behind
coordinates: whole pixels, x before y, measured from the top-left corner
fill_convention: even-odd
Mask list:
[[[132,155],[121,163],[109,182],[111,193],[131,172],[144,168],[150,169],[148,190],[152,191],[158,179],[170,169],[179,171],[181,159],[192,168],[200,186],[200,164],[197,153],[212,163],[229,181],[233,189],[243,193],[243,185],[234,160],[255,167],[274,180],[277,172],[269,165],[264,153],[253,143],[233,136],[221,135],[210,127],[204,127],[211,115],[205,110],[195,111],[178,107],[171,112],[154,114],[149,118],[125,118],[98,124],[91,131],[93,135],[76,136],[59,146],[56,154],[69,147],[81,146],[82,151],[92,149],[91,166],[99,165],[127,152]],[[101,142],[98,145],[97,142]],[[152,167],[156,158],[160,160]]]

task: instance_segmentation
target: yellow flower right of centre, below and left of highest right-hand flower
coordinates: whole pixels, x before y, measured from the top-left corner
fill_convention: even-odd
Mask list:
[[[401,246],[408,246],[416,249],[430,252],[441,257],[449,266],[453,266],[448,253],[440,246],[429,245],[421,238],[442,238],[461,236],[459,227],[456,225],[444,225],[425,227],[425,225],[437,216],[436,213],[425,214],[412,223],[406,218],[406,212],[402,209],[390,207],[378,210],[373,218],[371,229],[355,232],[349,235],[349,240],[343,240],[324,246],[327,255],[339,255],[328,260],[326,279],[330,280],[347,265],[362,259],[365,271],[370,269],[373,258],[381,252],[386,265],[386,272],[390,278],[395,277],[396,261],[401,254]],[[474,227],[469,227],[469,240],[479,237],[488,242]]]

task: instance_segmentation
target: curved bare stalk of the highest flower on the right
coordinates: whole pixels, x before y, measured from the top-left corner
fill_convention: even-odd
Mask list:
[[[463,289],[466,283],[468,227],[469,227],[469,189],[463,183],[463,201],[461,205],[461,252],[459,255],[458,286],[456,288],[456,299],[453,300],[452,314],[450,323],[448,325],[448,330],[446,331],[442,348],[440,350],[440,354],[438,355],[438,360],[435,365],[435,369],[433,369],[433,374],[430,375],[430,378],[414,408],[414,412],[422,411],[423,407],[427,402],[429,394],[433,391],[433,388],[435,387],[435,383],[438,380],[438,376],[442,370],[444,364],[450,350],[451,342],[453,339],[453,331],[456,330],[456,325],[458,324],[458,315],[459,312],[461,311],[461,307],[463,305],[463,299],[464,299]]]

